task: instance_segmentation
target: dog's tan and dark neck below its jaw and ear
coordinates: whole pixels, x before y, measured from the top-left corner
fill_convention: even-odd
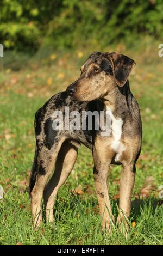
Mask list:
[[[127,80],[123,87],[114,86],[101,101],[106,108],[110,108],[115,115],[121,116],[121,113],[130,111],[133,95],[131,94],[129,82]]]

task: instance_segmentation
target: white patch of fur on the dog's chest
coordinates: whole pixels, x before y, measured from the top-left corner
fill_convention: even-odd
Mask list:
[[[121,118],[116,119],[109,107],[107,107],[106,111],[107,111],[107,114],[110,115],[111,132],[112,132],[112,135],[114,136],[114,140],[111,143],[111,148],[114,149],[115,152],[117,153],[115,160],[118,161],[118,159],[120,158],[124,150],[124,145],[120,142],[121,135],[122,135],[123,120]]]

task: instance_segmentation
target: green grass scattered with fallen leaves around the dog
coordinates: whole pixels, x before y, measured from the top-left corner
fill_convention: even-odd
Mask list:
[[[15,65],[14,54],[6,54],[4,70],[0,72],[0,185],[5,191],[0,200],[0,245],[162,244],[163,210],[158,193],[159,186],[163,185],[163,74],[158,44],[146,41],[133,45],[132,50],[123,44],[99,49],[123,52],[137,64],[130,76],[130,87],[141,109],[143,143],[127,239],[116,226],[111,236],[101,232],[93,161],[91,152],[84,146],[79,150],[70,178],[59,191],[55,223],[32,228],[27,184],[35,150],[34,114],[49,97],[78,78],[79,66],[92,49],[62,53],[40,51],[31,59],[16,57]],[[108,179],[115,216],[120,173],[120,167],[111,167]],[[71,192],[78,186],[83,194]]]

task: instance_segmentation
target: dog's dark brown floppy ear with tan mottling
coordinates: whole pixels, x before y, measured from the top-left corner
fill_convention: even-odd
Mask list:
[[[135,66],[133,59],[118,52],[112,52],[108,55],[113,69],[114,79],[118,86],[124,86],[128,80],[131,69]]]

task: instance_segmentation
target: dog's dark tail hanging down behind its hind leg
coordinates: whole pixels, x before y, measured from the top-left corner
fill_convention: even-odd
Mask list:
[[[33,166],[32,166],[32,170],[30,173],[29,188],[28,188],[29,197],[31,196],[31,192],[32,192],[35,182],[36,182],[37,172],[38,172],[38,164],[37,164],[37,149],[36,149]]]

